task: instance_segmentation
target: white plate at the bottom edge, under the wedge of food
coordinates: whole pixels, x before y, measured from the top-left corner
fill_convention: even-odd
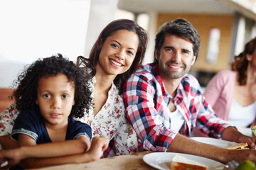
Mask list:
[[[223,169],[224,167],[224,164],[221,164],[220,162],[216,162],[212,159],[198,157],[192,154],[181,154],[181,153],[175,153],[175,152],[154,152],[150,154],[145,154],[143,157],[143,160],[144,162],[146,162],[146,164],[149,164],[150,166],[153,166],[156,169],[165,170],[165,169],[170,169],[171,159],[176,154],[179,154],[182,157],[186,157],[187,159],[196,161],[200,164],[206,165],[208,166],[209,170]]]

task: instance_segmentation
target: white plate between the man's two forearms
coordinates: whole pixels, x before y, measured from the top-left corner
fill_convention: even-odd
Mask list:
[[[230,147],[233,142],[230,142],[228,140],[218,140],[212,137],[190,137],[192,140],[196,140],[198,142],[215,145],[217,147]]]

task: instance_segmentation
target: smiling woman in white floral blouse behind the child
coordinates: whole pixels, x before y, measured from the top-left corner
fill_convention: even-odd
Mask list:
[[[137,152],[137,135],[125,116],[120,94],[124,80],[142,65],[146,45],[144,29],[134,21],[121,19],[102,30],[89,59],[78,57],[80,67],[90,74],[93,91],[93,106],[79,120],[92,127],[92,137],[104,135],[111,140],[104,157]],[[11,132],[18,113],[15,103],[1,113],[0,135]],[[1,144],[4,138],[0,138]]]

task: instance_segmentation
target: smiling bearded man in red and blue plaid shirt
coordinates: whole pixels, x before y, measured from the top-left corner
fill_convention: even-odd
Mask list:
[[[195,154],[222,163],[256,162],[255,149],[229,150],[186,137],[198,127],[210,137],[247,142],[250,148],[256,141],[218,118],[196,78],[187,74],[201,45],[197,30],[178,18],[161,26],[155,43],[154,63],[137,70],[124,85],[127,116],[137,132],[139,149]]]

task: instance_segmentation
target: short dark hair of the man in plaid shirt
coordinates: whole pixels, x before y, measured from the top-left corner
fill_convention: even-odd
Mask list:
[[[174,21],[164,23],[160,28],[155,38],[155,52],[154,63],[158,64],[156,60],[156,51],[161,50],[161,46],[164,43],[165,35],[176,35],[181,38],[188,38],[193,43],[193,55],[198,57],[198,52],[201,46],[201,40],[196,28],[184,18],[177,18]]]

